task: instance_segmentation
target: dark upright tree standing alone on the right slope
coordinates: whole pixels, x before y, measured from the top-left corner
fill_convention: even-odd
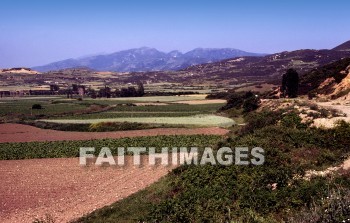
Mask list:
[[[281,91],[284,96],[296,98],[298,96],[299,74],[294,69],[288,69],[282,76]]]

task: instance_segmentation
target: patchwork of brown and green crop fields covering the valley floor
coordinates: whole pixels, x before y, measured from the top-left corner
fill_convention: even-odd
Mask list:
[[[35,104],[41,109],[32,109]],[[0,99],[0,171],[6,173],[0,180],[7,182],[0,187],[6,196],[0,202],[0,218],[3,222],[44,218],[66,222],[151,185],[174,166],[86,169],[76,158],[79,148],[94,147],[95,155],[102,147],[109,147],[112,153],[118,147],[133,146],[156,147],[158,152],[162,147],[198,147],[201,151],[222,141],[229,132],[222,127],[234,124],[217,113],[223,104],[206,100],[205,95]],[[100,181],[109,186],[101,189]],[[82,200],[86,185],[89,190],[102,190],[104,198]]]

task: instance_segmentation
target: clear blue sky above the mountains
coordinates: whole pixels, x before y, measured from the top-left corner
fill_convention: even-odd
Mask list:
[[[0,68],[139,47],[256,53],[350,40],[348,0],[0,0]]]

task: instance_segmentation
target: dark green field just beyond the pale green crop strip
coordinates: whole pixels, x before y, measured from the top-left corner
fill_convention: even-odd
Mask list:
[[[112,98],[83,100],[67,99],[59,96],[47,97],[17,97],[0,99],[0,117],[29,118],[35,116],[66,119],[97,119],[118,117],[180,117],[196,114],[215,113],[223,104],[171,104],[181,100],[202,100],[205,95],[196,96],[160,96],[140,98]],[[163,105],[134,106],[132,103],[152,103],[162,101]],[[40,104],[43,109],[32,109],[33,104]],[[93,105],[109,106],[108,112],[90,112],[88,109]],[[133,105],[133,106],[130,106]],[[75,116],[75,113],[79,113]],[[84,113],[84,114],[82,114]]]

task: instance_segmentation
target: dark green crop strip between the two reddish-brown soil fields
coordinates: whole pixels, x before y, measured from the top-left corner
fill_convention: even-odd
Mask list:
[[[147,136],[121,139],[98,139],[84,141],[0,143],[0,160],[78,157],[80,147],[95,147],[96,153],[102,147],[109,147],[117,154],[118,147],[205,147],[214,146],[222,136],[215,135],[173,135]]]

